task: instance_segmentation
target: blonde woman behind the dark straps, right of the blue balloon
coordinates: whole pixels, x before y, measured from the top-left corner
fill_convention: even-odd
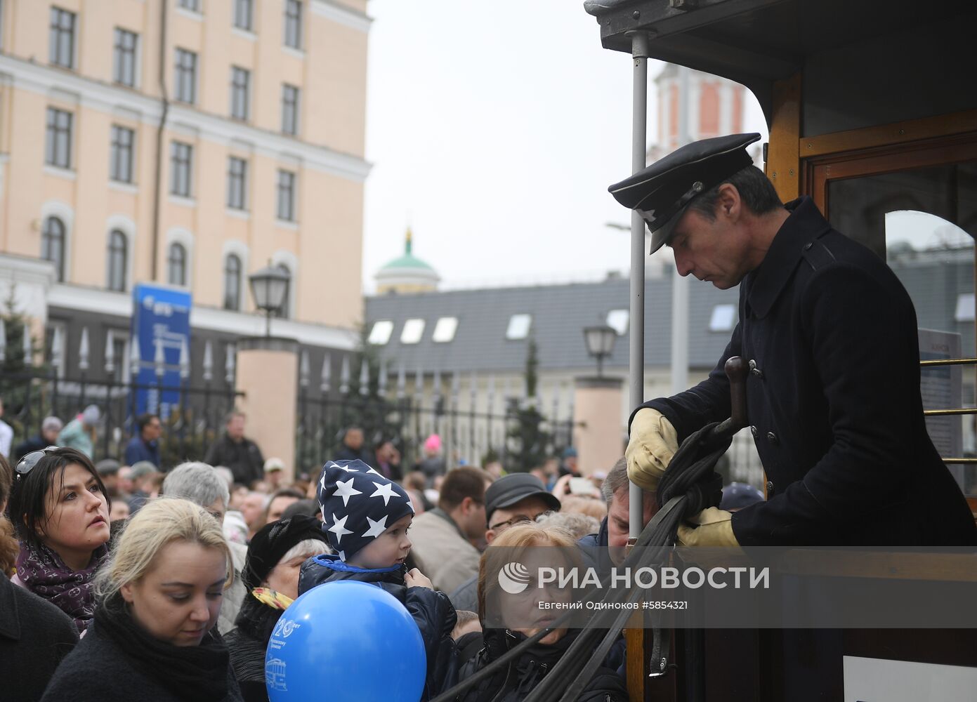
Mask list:
[[[537,547],[550,548],[535,551]],[[505,604],[501,603],[503,593],[498,569],[502,564],[516,560],[528,565],[532,572],[537,565],[557,565],[550,562],[553,557],[564,559],[566,562],[559,565],[565,567],[581,566],[573,536],[562,527],[535,523],[513,526],[492,541],[479,564],[479,617],[485,631],[485,645],[475,658],[462,665],[459,681],[475,675],[521,641],[549,628],[557,618],[555,612],[562,613],[563,610],[540,609],[536,606],[539,601],[572,600],[570,590],[558,588],[555,583],[536,588],[531,578],[530,588],[517,595],[507,592]],[[520,702],[553,670],[577,634],[579,630],[566,627],[554,629],[508,666],[502,666],[494,675],[470,687],[461,699],[464,702]],[[627,690],[613,670],[601,667],[578,700],[626,702]]]

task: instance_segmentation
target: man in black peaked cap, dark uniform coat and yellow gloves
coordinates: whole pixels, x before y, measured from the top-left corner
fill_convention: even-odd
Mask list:
[[[610,190],[672,248],[680,275],[740,284],[739,323],[709,377],[631,415],[628,475],[654,489],[678,443],[730,415],[727,358],[749,366],[747,412],[767,500],[709,508],[690,546],[963,545],[970,510],[926,433],[913,303],[810,197],[782,204],[746,146],[685,145]],[[741,284],[742,283],[742,284]]]

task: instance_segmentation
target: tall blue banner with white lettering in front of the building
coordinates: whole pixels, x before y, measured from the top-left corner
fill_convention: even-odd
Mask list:
[[[139,345],[139,374],[133,379],[136,414],[166,421],[180,403],[181,360],[190,368],[189,292],[139,283],[133,289],[132,339]],[[183,359],[181,359],[183,355]]]

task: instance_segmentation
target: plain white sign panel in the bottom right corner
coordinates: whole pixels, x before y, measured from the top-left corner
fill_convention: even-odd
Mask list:
[[[844,656],[844,702],[973,702],[977,668]]]

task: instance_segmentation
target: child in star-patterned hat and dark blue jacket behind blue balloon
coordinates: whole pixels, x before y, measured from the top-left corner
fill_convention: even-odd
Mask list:
[[[335,580],[374,583],[399,599],[417,623],[427,654],[422,700],[454,683],[456,615],[417,568],[404,565],[410,553],[407,529],[414,510],[403,487],[362,461],[330,461],[319,477],[322,530],[337,556],[309,558],[299,572],[299,595]]]

